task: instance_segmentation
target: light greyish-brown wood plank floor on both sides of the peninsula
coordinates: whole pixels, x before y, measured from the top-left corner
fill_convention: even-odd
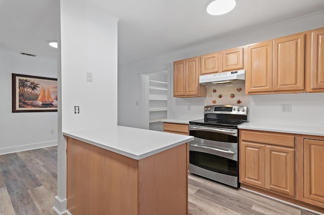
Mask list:
[[[56,185],[57,147],[0,155],[0,214],[56,214]],[[188,186],[191,215],[314,214],[193,174]]]

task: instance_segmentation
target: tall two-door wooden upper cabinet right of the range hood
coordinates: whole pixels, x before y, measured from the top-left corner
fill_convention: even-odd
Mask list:
[[[248,45],[246,91],[304,91],[306,32]]]

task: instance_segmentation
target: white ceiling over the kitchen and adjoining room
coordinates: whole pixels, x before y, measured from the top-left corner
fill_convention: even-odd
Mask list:
[[[58,0],[0,0],[0,49],[55,59]],[[236,0],[222,16],[209,0],[83,0],[119,19],[118,64],[149,59],[324,10],[323,0]]]

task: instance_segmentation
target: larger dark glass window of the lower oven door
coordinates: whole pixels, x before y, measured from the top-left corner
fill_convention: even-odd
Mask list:
[[[189,163],[213,172],[238,176],[238,162],[214,154],[189,151]]]

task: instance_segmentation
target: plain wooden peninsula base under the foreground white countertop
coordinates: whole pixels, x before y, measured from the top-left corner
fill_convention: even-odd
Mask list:
[[[136,160],[67,138],[71,214],[188,214],[186,144]]]

